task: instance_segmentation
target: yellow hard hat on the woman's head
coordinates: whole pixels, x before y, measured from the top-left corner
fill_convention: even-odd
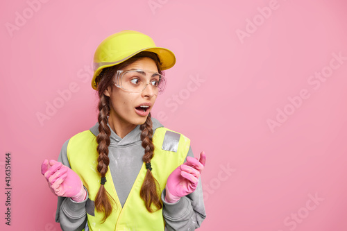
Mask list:
[[[106,37],[94,53],[94,75],[92,87],[96,89],[95,78],[102,69],[117,65],[133,57],[141,51],[156,53],[161,62],[162,70],[175,65],[176,58],[169,49],[155,46],[151,37],[137,31],[121,31]]]

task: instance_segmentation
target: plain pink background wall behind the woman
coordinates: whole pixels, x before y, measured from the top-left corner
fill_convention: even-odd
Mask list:
[[[199,230],[347,230],[346,6],[2,1],[0,229],[60,230],[56,196],[40,164],[94,125],[94,51],[108,35],[130,29],[176,54],[153,115],[189,137],[196,156],[208,155],[202,175],[208,216]],[[321,71],[327,77],[319,80]],[[69,85],[75,92],[62,100],[58,92]],[[59,108],[40,123],[46,103]],[[12,153],[10,227],[6,152]]]

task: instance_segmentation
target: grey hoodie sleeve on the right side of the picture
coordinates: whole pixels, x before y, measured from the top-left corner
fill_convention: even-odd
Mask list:
[[[191,147],[189,147],[187,156],[194,157]],[[165,193],[164,189],[162,191],[162,215],[166,223],[165,230],[192,231],[199,228],[206,217],[201,178],[198,180],[198,187],[195,191],[192,194],[183,196],[176,203],[167,203]]]

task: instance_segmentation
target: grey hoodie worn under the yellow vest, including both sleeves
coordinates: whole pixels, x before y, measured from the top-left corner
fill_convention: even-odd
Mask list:
[[[152,118],[152,121],[154,134],[156,128],[163,126],[157,119]],[[109,124],[108,126],[110,127]],[[123,207],[143,163],[144,148],[140,138],[142,131],[138,125],[121,139],[112,128],[110,130],[110,146],[108,147],[109,168],[119,201]],[[98,135],[99,123],[90,128],[90,131],[95,136]],[[70,168],[69,160],[67,159],[68,143],[69,139],[62,145],[58,161]],[[187,155],[194,157],[191,147],[189,147]],[[176,203],[167,203],[164,200],[165,189],[162,191],[161,196],[163,203],[162,215],[166,223],[165,230],[195,230],[200,227],[206,217],[201,180],[199,180],[198,187],[192,194],[180,198]],[[56,222],[60,223],[62,230],[83,230],[83,228],[85,228],[85,231],[89,230],[86,214],[87,200],[88,191],[87,198],[79,203],[71,200],[71,198],[58,196]]]

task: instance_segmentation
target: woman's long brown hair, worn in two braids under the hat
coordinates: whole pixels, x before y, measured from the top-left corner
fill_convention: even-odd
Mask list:
[[[158,55],[148,51],[142,51],[132,58],[121,62],[119,65],[112,67],[106,67],[101,71],[101,74],[96,77],[97,93],[99,95],[99,135],[96,137],[96,142],[98,143],[97,151],[99,153],[97,170],[99,171],[101,178],[105,177],[108,171],[108,164],[110,164],[110,159],[108,158],[108,146],[110,145],[110,135],[111,130],[108,127],[108,115],[110,114],[110,97],[105,96],[105,90],[113,85],[113,78],[115,73],[119,69],[130,65],[139,58],[149,57],[155,61],[157,65],[159,74],[162,74],[161,63]],[[142,160],[145,164],[151,162],[153,157],[154,145],[152,142],[152,120],[151,113],[149,113],[146,122],[140,126],[142,147],[144,148],[144,157]],[[106,182],[107,184],[108,182]],[[113,187],[113,185],[112,185]],[[153,177],[151,170],[147,169],[144,182],[140,190],[140,196],[144,200],[146,209],[149,212],[154,212],[162,208],[162,203],[160,202],[160,187],[159,183]],[[115,199],[108,194],[104,185],[100,185],[99,191],[95,198],[95,208],[98,212],[104,212],[103,222],[110,216],[112,212],[112,203],[115,204]],[[116,207],[117,209],[117,207]]]

